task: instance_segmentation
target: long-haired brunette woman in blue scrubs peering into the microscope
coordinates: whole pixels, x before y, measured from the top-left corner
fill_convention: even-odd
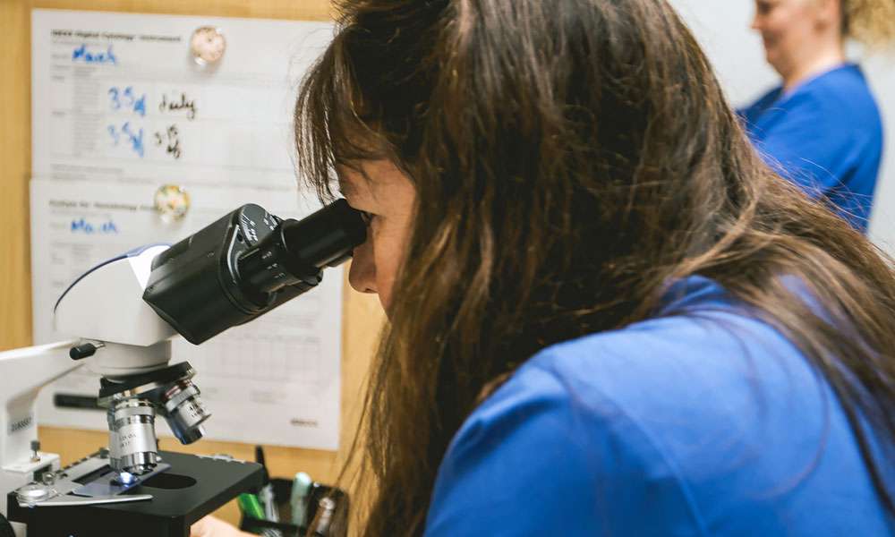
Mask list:
[[[367,214],[395,535],[892,531],[895,276],[662,0],[340,3],[303,174]]]

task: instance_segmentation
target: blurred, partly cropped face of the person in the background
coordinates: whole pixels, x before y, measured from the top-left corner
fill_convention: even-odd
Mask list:
[[[752,28],[762,34],[768,63],[786,77],[819,45],[818,28],[827,14],[819,0],[755,0]]]

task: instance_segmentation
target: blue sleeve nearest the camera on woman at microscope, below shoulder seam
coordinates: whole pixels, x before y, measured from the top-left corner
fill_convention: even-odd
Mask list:
[[[635,423],[609,402],[576,400],[550,371],[524,369],[448,448],[428,537],[704,534],[678,477]]]

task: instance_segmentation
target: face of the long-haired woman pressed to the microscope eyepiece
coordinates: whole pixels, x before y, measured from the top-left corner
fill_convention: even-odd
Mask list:
[[[367,220],[367,240],[354,248],[348,281],[356,291],[379,294],[388,314],[398,268],[413,226],[413,183],[388,160],[339,166],[339,188]]]

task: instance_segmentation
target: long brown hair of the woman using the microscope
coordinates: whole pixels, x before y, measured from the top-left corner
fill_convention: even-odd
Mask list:
[[[366,401],[381,493],[365,535],[422,533],[447,444],[495,379],[650,317],[695,273],[823,373],[895,513],[871,447],[895,439],[891,264],[756,157],[666,2],[338,8],[296,106],[303,176],[328,197],[337,164],[390,158],[418,195]]]

